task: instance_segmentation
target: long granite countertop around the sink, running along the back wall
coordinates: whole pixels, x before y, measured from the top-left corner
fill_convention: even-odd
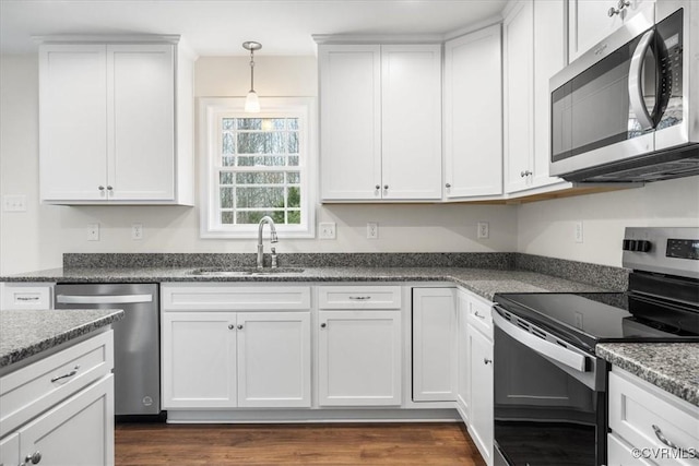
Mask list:
[[[603,292],[614,289],[529,271],[465,267],[303,267],[295,273],[262,275],[194,275],[197,267],[85,267],[0,277],[0,282],[57,283],[323,283],[323,282],[451,282],[493,300],[496,292]]]

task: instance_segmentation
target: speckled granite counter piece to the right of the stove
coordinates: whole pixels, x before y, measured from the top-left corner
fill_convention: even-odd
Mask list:
[[[597,356],[699,406],[699,343],[603,343]]]

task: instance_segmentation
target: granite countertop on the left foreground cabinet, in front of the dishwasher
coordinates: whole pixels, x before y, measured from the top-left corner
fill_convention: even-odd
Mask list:
[[[0,369],[122,318],[118,309],[0,310]]]

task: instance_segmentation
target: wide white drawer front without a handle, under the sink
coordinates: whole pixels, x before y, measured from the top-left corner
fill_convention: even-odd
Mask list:
[[[309,286],[163,284],[165,311],[296,311],[310,309]]]

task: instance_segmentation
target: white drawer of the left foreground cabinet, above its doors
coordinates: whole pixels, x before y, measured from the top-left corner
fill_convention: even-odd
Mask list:
[[[68,347],[0,379],[0,437],[114,368],[112,331]]]

